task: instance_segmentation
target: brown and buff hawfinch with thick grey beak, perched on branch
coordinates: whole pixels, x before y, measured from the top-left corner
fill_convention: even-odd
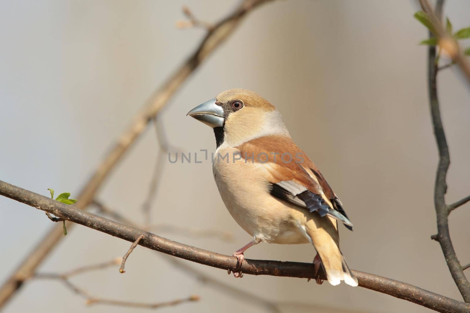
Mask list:
[[[188,115],[214,129],[212,170],[220,196],[253,237],[233,254],[239,268],[243,252],[261,241],[310,243],[317,251],[315,272],[322,265],[330,284],[344,280],[357,286],[339,250],[337,221],[351,230],[352,223],[318,168],[290,138],[276,108],[254,92],[231,89]]]

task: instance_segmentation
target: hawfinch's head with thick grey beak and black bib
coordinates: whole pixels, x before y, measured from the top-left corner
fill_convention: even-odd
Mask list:
[[[237,146],[272,134],[289,136],[281,115],[266,99],[246,89],[230,89],[188,112],[214,129],[217,146]]]

